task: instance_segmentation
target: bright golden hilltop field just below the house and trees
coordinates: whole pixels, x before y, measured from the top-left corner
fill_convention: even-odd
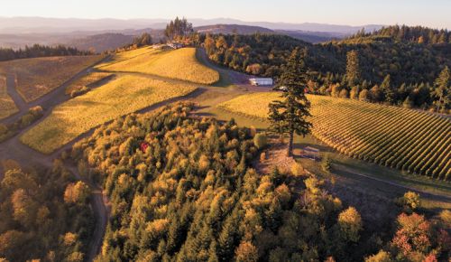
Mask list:
[[[130,53],[129,53],[130,52]],[[116,62],[97,67],[106,71],[138,72],[174,80],[211,85],[219,80],[219,73],[203,65],[196,58],[195,48],[174,51],[153,50],[149,47],[118,53]]]

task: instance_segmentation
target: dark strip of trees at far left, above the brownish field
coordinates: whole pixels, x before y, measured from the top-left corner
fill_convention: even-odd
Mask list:
[[[69,55],[89,55],[90,51],[79,51],[73,47],[64,45],[47,46],[41,44],[33,44],[26,46],[24,49],[14,50],[11,48],[0,47],[0,61],[9,61],[22,58],[48,57],[48,56],[69,56]]]

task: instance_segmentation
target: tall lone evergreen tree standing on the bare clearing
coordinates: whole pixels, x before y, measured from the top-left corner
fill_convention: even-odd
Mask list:
[[[311,116],[308,111],[310,102],[305,96],[307,74],[299,52],[299,48],[291,52],[290,59],[284,67],[277,86],[278,89],[285,87],[286,91],[282,92],[281,100],[272,101],[268,117],[272,131],[281,136],[283,134],[289,135],[289,156],[293,152],[294,134],[306,136],[312,126],[306,120],[306,117]]]

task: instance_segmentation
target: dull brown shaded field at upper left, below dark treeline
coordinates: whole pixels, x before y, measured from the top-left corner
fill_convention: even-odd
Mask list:
[[[19,59],[0,62],[0,72],[16,76],[17,91],[30,102],[58,88],[79,71],[102,59],[100,55]]]

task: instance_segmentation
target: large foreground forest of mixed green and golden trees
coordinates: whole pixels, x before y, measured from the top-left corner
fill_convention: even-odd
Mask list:
[[[400,199],[392,229],[370,232],[354,207],[306,173],[252,168],[262,134],[190,117],[178,104],[101,126],[74,145],[112,204],[97,261],[436,261],[449,257],[450,214]],[[447,219],[446,219],[447,218]],[[382,259],[382,260],[381,260]],[[383,260],[384,259],[384,260]]]

